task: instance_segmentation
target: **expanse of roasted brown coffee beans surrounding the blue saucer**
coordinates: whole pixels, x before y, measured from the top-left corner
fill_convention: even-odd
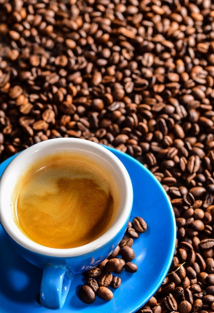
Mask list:
[[[0,161],[81,137],[168,194],[176,250],[144,313],[214,311],[213,77],[212,0],[0,0]]]

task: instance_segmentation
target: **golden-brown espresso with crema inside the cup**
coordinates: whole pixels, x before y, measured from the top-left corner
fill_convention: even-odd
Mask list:
[[[81,153],[57,152],[26,168],[12,202],[15,222],[31,240],[71,248],[108,229],[119,196],[103,165]]]

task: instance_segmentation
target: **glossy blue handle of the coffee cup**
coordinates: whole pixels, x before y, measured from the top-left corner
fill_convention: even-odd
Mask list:
[[[51,309],[62,308],[71,280],[72,276],[68,273],[66,267],[46,265],[41,278],[41,305]]]

